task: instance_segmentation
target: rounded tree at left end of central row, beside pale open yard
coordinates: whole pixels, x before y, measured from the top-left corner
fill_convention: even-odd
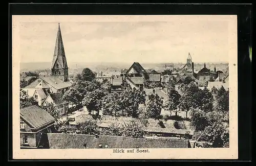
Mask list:
[[[103,89],[96,89],[89,91],[83,99],[83,105],[87,107],[89,113],[96,111],[99,115],[99,110],[102,108],[103,97],[106,96],[106,92]]]

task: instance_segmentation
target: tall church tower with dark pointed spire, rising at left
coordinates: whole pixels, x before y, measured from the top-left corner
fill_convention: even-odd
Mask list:
[[[64,82],[69,81],[69,69],[59,26],[52,60],[52,76],[57,76]]]

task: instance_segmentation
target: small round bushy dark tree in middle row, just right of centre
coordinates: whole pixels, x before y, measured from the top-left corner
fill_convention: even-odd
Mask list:
[[[158,94],[150,94],[148,96],[148,101],[146,102],[146,110],[150,117],[157,118],[161,114],[163,105],[163,100],[158,96]]]

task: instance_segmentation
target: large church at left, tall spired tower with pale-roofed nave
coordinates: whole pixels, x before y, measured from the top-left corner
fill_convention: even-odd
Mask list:
[[[39,78],[23,88],[23,90],[27,92],[29,97],[32,97],[34,95],[37,88],[41,88],[47,94],[55,93],[58,91],[62,91],[64,93],[71,86],[71,83],[68,79],[68,64],[59,26],[52,60],[51,72],[51,75],[40,75]]]

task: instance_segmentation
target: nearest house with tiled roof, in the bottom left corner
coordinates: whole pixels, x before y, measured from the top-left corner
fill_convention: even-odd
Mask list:
[[[20,148],[37,148],[42,133],[52,132],[54,117],[36,105],[20,109],[19,114]]]

